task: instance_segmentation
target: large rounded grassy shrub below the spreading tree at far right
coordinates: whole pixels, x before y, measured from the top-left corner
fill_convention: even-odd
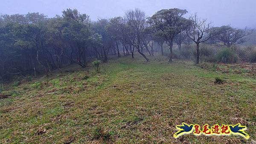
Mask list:
[[[239,58],[235,51],[225,48],[216,54],[216,60],[220,63],[236,63]]]

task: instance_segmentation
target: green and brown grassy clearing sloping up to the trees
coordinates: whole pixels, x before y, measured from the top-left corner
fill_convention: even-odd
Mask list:
[[[111,58],[101,73],[65,68],[10,84],[0,99],[0,143],[255,143],[256,77],[193,62],[136,55]],[[225,79],[215,84],[215,77]],[[184,135],[175,126],[237,124],[241,136]]]

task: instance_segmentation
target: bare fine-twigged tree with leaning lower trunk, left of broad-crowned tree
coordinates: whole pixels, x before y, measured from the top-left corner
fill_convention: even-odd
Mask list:
[[[127,22],[130,33],[127,34],[129,42],[132,46],[136,47],[137,51],[142,55],[146,61],[149,61],[146,55],[140,51],[140,46],[143,39],[143,31],[146,25],[145,12],[140,9],[129,10],[125,12],[125,21]]]

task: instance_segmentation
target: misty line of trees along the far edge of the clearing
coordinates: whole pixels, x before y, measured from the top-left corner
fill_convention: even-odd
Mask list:
[[[215,46],[242,44],[253,29],[232,26],[214,27],[196,14],[183,17],[182,9],[163,9],[147,17],[140,9],[128,10],[123,17],[90,20],[87,14],[67,9],[62,16],[47,18],[44,14],[28,13],[0,16],[0,80],[13,75],[49,75],[52,70],[76,63],[86,67],[93,59],[108,61],[116,57],[138,53],[146,61],[157,49],[168,58],[174,57],[173,45],[186,51],[182,45],[194,45],[199,63],[201,43]],[[177,57],[177,56],[176,56]]]

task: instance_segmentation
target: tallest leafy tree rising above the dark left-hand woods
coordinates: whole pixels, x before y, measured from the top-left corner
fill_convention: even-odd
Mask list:
[[[76,9],[62,12],[63,22],[61,36],[70,49],[65,49],[65,56],[72,63],[81,67],[87,66],[87,52],[91,35],[90,19],[86,14],[80,14]]]

